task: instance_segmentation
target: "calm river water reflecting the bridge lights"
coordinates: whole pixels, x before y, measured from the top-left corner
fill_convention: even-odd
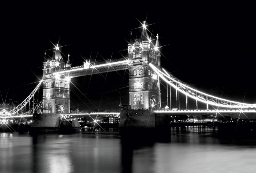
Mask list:
[[[120,139],[118,132],[0,133],[0,172],[200,173],[256,171],[256,140],[213,137],[211,128],[171,128],[171,141]]]

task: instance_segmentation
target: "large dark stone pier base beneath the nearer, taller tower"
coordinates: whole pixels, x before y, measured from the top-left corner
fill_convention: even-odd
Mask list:
[[[155,110],[121,110],[119,135],[122,137],[170,139],[170,116]]]

